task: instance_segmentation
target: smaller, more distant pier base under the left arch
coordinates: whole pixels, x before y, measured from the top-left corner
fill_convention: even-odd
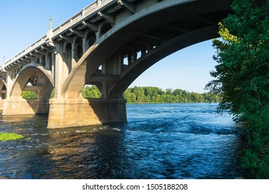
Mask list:
[[[48,114],[48,100],[4,99],[2,115]]]

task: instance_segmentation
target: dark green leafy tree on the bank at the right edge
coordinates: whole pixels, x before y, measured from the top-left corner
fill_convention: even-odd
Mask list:
[[[221,97],[219,111],[249,123],[243,167],[269,178],[269,0],[235,0],[232,9],[219,24],[222,40],[213,41],[218,65],[206,88]]]

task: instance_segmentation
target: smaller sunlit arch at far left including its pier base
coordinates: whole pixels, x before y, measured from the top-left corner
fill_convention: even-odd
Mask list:
[[[14,79],[7,99],[3,100],[3,115],[48,114],[53,88],[50,72],[36,63],[28,63]],[[23,99],[23,90],[36,91],[37,99]]]

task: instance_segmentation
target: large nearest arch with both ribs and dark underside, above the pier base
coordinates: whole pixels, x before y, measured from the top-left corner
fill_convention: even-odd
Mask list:
[[[117,83],[106,84],[102,89],[108,92],[106,97],[119,98],[132,81],[160,59],[188,45],[217,37],[217,23],[231,11],[231,0],[215,4],[188,0],[162,2],[152,4],[147,12],[132,14],[116,23],[106,36],[99,37],[63,83],[63,98],[81,98],[83,86],[99,76],[96,73],[99,66],[106,61],[111,63],[110,57],[121,52],[121,60],[127,57],[128,64],[117,70],[119,74],[112,73]],[[106,25],[110,23],[103,24]],[[119,66],[111,65],[111,68]]]

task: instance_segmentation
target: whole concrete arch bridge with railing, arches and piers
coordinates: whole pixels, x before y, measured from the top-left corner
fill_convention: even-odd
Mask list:
[[[132,81],[169,54],[218,37],[231,2],[94,1],[1,66],[2,116],[48,113],[48,128],[126,122],[123,92]],[[101,99],[83,99],[86,84]],[[24,90],[37,99],[23,99]]]

